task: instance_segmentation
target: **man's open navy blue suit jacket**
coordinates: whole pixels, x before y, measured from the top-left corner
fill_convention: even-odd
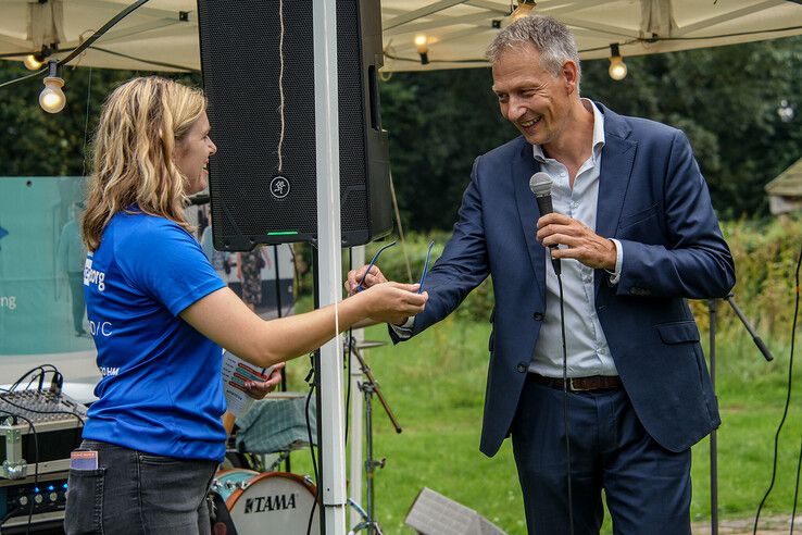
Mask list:
[[[621,240],[624,262],[616,285],[596,270],[596,309],[641,423],[664,448],[681,451],[720,423],[685,298],[726,296],[735,284],[732,259],[687,137],[597,105],[605,144],[596,232]],[[480,445],[488,456],[509,435],[546,310],[546,249],[535,238],[540,214],[529,190],[538,171],[523,137],[476,159],[459,222],[426,279],[426,310],[413,326],[417,334],[442,320],[492,275]]]

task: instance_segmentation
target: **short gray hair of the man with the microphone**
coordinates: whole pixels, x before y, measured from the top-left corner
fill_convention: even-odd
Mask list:
[[[522,42],[535,46],[540,52],[540,66],[552,76],[559,76],[568,60],[576,63],[577,73],[581,73],[574,35],[563,23],[547,15],[518,18],[499,32],[485,53],[490,63],[496,63],[501,54],[519,48]]]

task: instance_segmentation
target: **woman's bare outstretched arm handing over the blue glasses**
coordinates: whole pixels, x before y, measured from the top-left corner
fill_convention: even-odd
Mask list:
[[[342,300],[338,304],[339,332],[368,318],[394,323],[417,314],[428,295],[416,290],[417,285],[385,283]],[[180,315],[211,340],[261,368],[313,351],[338,334],[333,304],[265,321],[227,287],[199,299]]]

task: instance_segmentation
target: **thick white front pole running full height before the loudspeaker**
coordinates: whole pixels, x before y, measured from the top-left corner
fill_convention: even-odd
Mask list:
[[[326,307],[340,301],[342,297],[336,0],[312,2],[312,27],[319,303]],[[321,534],[346,535],[346,436],[340,336],[335,336],[321,347],[318,374],[321,406],[317,425],[323,434],[323,470],[317,482],[323,503]]]

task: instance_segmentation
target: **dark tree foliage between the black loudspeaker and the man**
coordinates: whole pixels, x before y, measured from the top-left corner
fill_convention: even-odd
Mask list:
[[[381,122],[405,228],[450,228],[474,159],[515,137],[491,85],[488,69],[399,73],[381,85]]]

